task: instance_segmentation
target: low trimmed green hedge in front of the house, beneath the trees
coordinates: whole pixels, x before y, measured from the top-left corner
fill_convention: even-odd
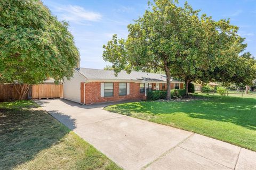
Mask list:
[[[147,99],[148,100],[158,100],[158,99],[166,99],[167,91],[148,91]],[[186,89],[173,89],[171,90],[171,97],[184,97],[186,95]]]

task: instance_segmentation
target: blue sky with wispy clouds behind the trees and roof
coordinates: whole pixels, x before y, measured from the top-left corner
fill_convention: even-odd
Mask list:
[[[53,15],[69,22],[81,55],[81,67],[103,69],[111,65],[102,60],[102,45],[113,34],[127,37],[127,25],[142,16],[148,0],[49,1],[43,0]],[[183,5],[185,1],[179,1]],[[214,20],[230,18],[246,38],[247,51],[256,57],[256,0],[188,0],[194,10],[201,9]]]

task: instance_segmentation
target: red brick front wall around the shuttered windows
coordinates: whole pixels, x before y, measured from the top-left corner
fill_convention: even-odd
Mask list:
[[[85,104],[145,99],[145,93],[140,93],[140,83],[130,82],[130,95],[119,96],[119,83],[114,82],[114,96],[112,97],[100,96],[100,83],[101,82],[85,83]],[[84,83],[81,83],[81,103],[84,103]]]

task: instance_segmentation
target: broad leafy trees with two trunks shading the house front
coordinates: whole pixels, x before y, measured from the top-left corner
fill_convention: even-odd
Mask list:
[[[217,66],[227,65],[243,52],[246,44],[237,34],[238,27],[229,20],[212,20],[187,3],[178,7],[171,0],[148,3],[145,14],[128,25],[127,39],[116,35],[103,46],[103,59],[113,63],[116,74],[130,72],[164,71],[167,99],[170,99],[170,78],[191,81],[213,80]],[[227,67],[225,67],[227,69]]]

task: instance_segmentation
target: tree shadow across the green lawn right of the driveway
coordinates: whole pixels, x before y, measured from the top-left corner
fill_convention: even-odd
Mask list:
[[[132,113],[151,115],[185,113],[204,120],[230,122],[256,130],[256,99],[236,97],[212,97],[209,100],[189,102],[141,102],[116,105],[111,111],[131,116]]]

